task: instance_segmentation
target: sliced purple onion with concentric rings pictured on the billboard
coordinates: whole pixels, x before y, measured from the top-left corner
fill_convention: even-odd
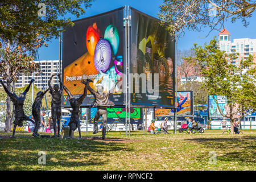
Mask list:
[[[111,46],[108,40],[100,39],[94,52],[94,67],[97,71],[108,70],[112,57]]]

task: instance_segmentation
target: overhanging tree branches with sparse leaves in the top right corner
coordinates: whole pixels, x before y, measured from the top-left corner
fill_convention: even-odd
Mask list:
[[[209,27],[209,33],[221,31],[229,18],[232,23],[242,20],[246,27],[255,9],[253,0],[164,0],[159,18],[168,23],[172,35],[183,36],[186,29],[201,31],[202,27]]]

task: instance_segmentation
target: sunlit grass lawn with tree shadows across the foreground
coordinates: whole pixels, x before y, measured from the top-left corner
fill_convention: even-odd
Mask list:
[[[0,170],[255,170],[256,130],[242,135],[150,135],[144,131],[110,132],[105,140],[32,138],[32,133],[0,133]],[[173,131],[170,131],[173,133]],[[100,133],[98,134],[100,135]],[[75,133],[75,137],[78,133]],[[38,164],[38,152],[46,152],[46,164]],[[215,164],[209,152],[217,155]]]

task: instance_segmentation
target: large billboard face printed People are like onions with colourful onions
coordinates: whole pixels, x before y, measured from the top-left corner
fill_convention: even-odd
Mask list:
[[[90,86],[97,85],[108,92],[117,80],[122,80],[125,30],[123,7],[108,13],[76,20],[73,27],[63,33],[63,82],[74,97],[84,92],[81,80],[90,78]],[[110,96],[115,105],[123,105],[122,81]],[[93,104],[89,90],[81,106]],[[70,107],[67,93],[63,94],[63,106]]]

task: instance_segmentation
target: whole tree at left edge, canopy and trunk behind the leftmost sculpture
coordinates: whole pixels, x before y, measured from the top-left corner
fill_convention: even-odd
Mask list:
[[[59,37],[60,27],[73,26],[66,14],[77,18],[93,0],[9,0],[0,2],[0,75],[9,90],[23,73],[38,71],[36,49]],[[11,101],[6,98],[6,132],[11,132]]]

